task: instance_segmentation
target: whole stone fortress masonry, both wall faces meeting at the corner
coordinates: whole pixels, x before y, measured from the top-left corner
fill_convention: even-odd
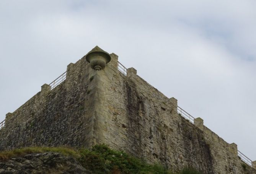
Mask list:
[[[134,68],[121,73],[116,54],[101,67],[93,56],[93,66],[86,56],[70,63],[65,81],[52,90],[42,85],[7,114],[0,150],[105,143],[174,171],[191,166],[205,174],[256,174],[256,163],[241,161],[235,143],[218,137],[201,118],[192,124],[179,115],[175,98],[149,85]]]

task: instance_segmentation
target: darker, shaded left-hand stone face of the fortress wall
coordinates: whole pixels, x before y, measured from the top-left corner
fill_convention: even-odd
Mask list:
[[[41,92],[20,108],[7,114],[0,131],[0,150],[23,146],[85,146],[93,137],[95,101],[90,79],[93,70],[85,59],[71,63],[67,79]]]

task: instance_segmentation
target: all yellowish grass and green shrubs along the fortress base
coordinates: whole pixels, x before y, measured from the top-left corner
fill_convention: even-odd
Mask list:
[[[173,173],[160,164],[147,164],[142,159],[135,158],[123,151],[112,150],[106,145],[95,145],[91,150],[85,148],[73,150],[66,147],[26,147],[0,152],[0,161],[44,152],[57,152],[65,156],[72,156],[93,174],[201,174],[189,167],[179,173]]]

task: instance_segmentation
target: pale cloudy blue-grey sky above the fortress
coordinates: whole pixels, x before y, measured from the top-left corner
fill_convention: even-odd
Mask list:
[[[256,160],[255,0],[0,0],[0,120],[98,45]]]

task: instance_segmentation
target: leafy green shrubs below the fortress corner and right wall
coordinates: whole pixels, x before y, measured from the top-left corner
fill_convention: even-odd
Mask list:
[[[97,174],[176,174],[160,164],[147,164],[123,151],[110,149],[106,145],[95,145],[91,150],[80,149],[80,163]],[[186,167],[177,174],[201,174]]]

